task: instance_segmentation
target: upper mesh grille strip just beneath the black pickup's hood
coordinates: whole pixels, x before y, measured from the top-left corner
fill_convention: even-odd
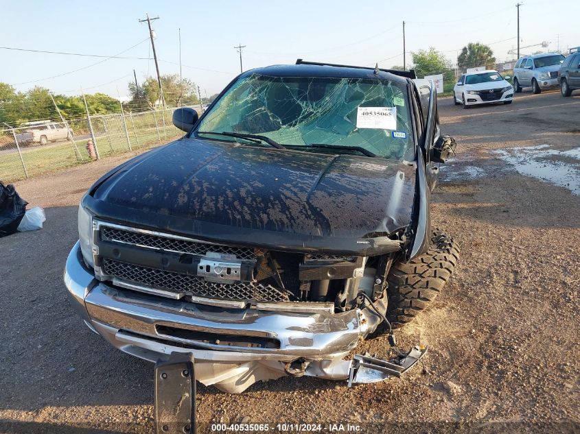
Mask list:
[[[254,260],[255,254],[252,248],[233,247],[230,245],[201,243],[199,241],[189,241],[187,239],[177,239],[163,237],[148,232],[135,232],[114,228],[112,226],[101,226],[101,238],[107,241],[117,241],[132,245],[140,245],[146,248],[157,250],[168,250],[172,252],[191,253],[205,256],[207,252],[220,254],[233,254],[238,259]]]

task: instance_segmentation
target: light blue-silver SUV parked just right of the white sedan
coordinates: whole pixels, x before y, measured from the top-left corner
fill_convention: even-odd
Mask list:
[[[558,86],[558,73],[565,57],[560,53],[534,54],[524,56],[513,67],[513,88],[516,93],[524,87],[533,93]]]

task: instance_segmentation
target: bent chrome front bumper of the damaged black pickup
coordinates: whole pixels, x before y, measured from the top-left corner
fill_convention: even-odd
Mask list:
[[[65,285],[71,304],[87,326],[115,348],[152,362],[167,360],[172,352],[191,352],[196,378],[231,392],[288,374],[288,364],[298,359],[305,366],[300,374],[337,380],[350,376],[352,382],[353,362],[344,357],[380,322],[369,309],[344,313],[224,309],[115,288],[86,268],[79,243],[67,258]],[[219,341],[164,333],[175,328],[186,333],[270,339],[277,345],[224,346]],[[413,353],[411,359],[419,359],[424,352]],[[384,378],[369,377],[369,381]],[[369,381],[354,378],[353,382]]]

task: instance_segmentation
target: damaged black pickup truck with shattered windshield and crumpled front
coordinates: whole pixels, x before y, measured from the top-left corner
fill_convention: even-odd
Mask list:
[[[193,353],[198,381],[231,392],[408,369],[426,348],[351,352],[412,320],[457,260],[429,214],[455,142],[414,79],[299,60],[242,73],[199,119],[176,110],[183,138],[82,198],[65,283],[86,325],[149,361]]]

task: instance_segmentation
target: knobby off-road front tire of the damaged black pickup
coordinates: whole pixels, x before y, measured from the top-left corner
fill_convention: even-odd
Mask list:
[[[413,321],[437,298],[453,274],[459,246],[439,229],[432,231],[429,250],[408,263],[395,263],[387,276],[386,316],[393,328]]]

